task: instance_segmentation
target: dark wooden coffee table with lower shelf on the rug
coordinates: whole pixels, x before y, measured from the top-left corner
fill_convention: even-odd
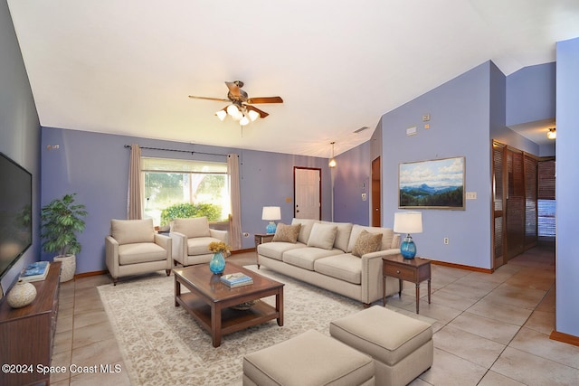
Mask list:
[[[175,274],[175,306],[183,306],[203,326],[219,347],[224,334],[243,330],[272,319],[283,325],[283,283],[279,283],[228,262],[223,274],[243,272],[253,278],[253,284],[230,288],[214,275],[209,264],[173,269]],[[190,292],[181,292],[181,286]],[[258,302],[248,310],[230,308],[261,297],[275,295],[275,307]]]

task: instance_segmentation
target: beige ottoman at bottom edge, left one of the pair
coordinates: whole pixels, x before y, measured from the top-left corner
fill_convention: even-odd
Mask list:
[[[309,330],[243,357],[243,385],[374,385],[374,361]]]

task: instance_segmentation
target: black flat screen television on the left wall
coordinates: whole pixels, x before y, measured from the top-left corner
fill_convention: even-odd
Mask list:
[[[0,153],[0,278],[33,242],[33,174]]]

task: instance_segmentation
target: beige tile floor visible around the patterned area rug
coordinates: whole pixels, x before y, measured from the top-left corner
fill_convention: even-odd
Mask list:
[[[255,254],[233,259],[252,264]],[[74,364],[78,371],[53,374],[53,385],[130,384],[97,290],[109,283],[106,275],[62,283],[52,365]],[[413,284],[405,283],[403,296],[389,298],[388,305],[413,312]],[[424,283],[420,312],[437,321],[434,363],[413,386],[579,384],[579,347],[549,339],[555,326],[553,248],[530,249],[493,274],[432,265],[432,304]],[[107,363],[120,364],[121,371],[90,372]]]

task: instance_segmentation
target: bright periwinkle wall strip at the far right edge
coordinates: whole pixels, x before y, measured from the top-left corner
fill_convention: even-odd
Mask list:
[[[556,148],[556,325],[560,333],[579,336],[577,307],[577,192],[579,192],[579,129],[575,116],[579,100],[579,38],[557,43]]]

